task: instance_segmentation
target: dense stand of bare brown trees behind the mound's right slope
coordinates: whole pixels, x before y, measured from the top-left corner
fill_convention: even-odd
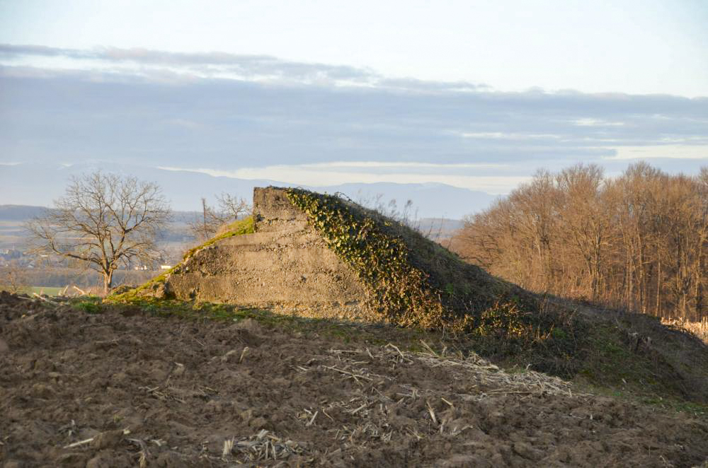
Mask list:
[[[452,241],[463,258],[532,291],[701,320],[708,315],[708,168],[647,163],[538,171]]]

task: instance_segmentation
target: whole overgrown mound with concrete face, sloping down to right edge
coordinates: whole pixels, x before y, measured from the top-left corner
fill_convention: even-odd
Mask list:
[[[662,347],[665,327],[646,324],[649,317],[582,314],[343,196],[256,188],[253,216],[114,299],[146,296],[434,329],[488,358],[564,378],[708,399],[708,387],[695,383],[708,370],[692,365],[708,356],[702,344],[680,337],[687,351],[678,356]]]

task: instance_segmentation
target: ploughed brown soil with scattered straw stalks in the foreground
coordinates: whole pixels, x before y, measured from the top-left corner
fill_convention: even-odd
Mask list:
[[[0,296],[4,467],[691,467],[707,440],[474,355]]]

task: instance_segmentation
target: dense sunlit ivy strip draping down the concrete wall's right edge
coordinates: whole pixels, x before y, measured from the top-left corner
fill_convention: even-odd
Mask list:
[[[440,296],[427,274],[411,266],[403,239],[384,233],[377,221],[332,195],[288,189],[290,202],[307,214],[329,247],[365,283],[368,306],[400,325],[441,327]]]

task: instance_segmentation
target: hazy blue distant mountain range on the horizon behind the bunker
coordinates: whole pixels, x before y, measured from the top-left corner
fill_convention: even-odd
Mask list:
[[[200,199],[206,197],[213,203],[217,194],[228,193],[237,197],[251,199],[253,187],[293,187],[293,184],[277,180],[246,180],[232,177],[215,177],[200,172],[183,170],[164,170],[135,165],[106,163],[86,163],[85,165],[0,165],[0,204],[51,206],[52,200],[64,193],[69,177],[95,170],[115,172],[122,175],[135,175],[141,180],[159,184],[164,194],[171,201],[172,208],[178,211],[197,211]],[[342,192],[355,201],[379,200],[384,204],[392,199],[401,209],[406,201],[411,200],[411,216],[418,218],[460,219],[489,206],[496,197],[486,192],[452,187],[444,184],[395,184],[379,182],[375,184],[343,184],[320,187],[303,187],[318,192]],[[24,206],[23,209],[27,209]],[[13,214],[13,209],[3,207],[0,219]],[[22,209],[20,211],[23,211]],[[14,218],[13,218],[14,219]]]

